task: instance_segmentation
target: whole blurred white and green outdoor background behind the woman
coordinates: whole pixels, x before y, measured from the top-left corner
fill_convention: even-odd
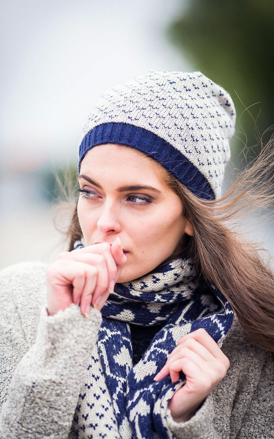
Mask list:
[[[0,24],[0,268],[68,250],[53,225],[55,173],[76,184],[82,127],[111,86],[149,69],[199,70],[223,86],[237,112],[223,191],[233,166],[258,155],[256,130],[270,137],[273,2],[9,0]],[[246,230],[273,261],[273,222],[260,215]]]

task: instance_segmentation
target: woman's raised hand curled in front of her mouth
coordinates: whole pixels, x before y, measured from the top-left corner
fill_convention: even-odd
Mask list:
[[[71,303],[89,316],[89,306],[102,309],[127,261],[119,237],[61,252],[47,269],[47,312],[53,316]]]

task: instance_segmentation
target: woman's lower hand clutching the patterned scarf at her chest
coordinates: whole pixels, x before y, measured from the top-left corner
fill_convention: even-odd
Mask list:
[[[181,337],[164,367],[154,377],[159,381],[170,374],[171,382],[175,382],[179,379],[179,371],[186,376],[185,385],[174,393],[167,406],[174,421],[188,421],[225,377],[229,367],[228,357],[205,329]]]

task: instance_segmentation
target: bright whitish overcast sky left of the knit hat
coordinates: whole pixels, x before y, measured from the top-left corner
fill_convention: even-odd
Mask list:
[[[0,14],[0,148],[5,168],[78,161],[93,105],[153,70],[192,70],[165,37],[182,0],[6,0]]]

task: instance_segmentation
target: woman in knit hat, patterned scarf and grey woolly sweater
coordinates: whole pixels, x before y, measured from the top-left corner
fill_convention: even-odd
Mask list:
[[[274,437],[274,276],[225,225],[274,157],[221,198],[235,117],[201,72],[100,98],[68,252],[0,273],[1,438]]]

